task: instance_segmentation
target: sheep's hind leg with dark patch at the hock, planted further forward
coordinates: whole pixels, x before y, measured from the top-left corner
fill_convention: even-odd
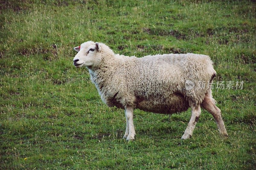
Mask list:
[[[188,127],[185,130],[181,139],[188,139],[192,136],[193,131],[196,127],[196,122],[198,121],[200,114],[201,114],[200,105],[191,106],[191,118],[190,118],[190,121],[188,122]]]

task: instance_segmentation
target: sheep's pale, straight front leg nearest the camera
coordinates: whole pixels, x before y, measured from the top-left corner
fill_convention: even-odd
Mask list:
[[[126,140],[133,140],[135,137],[135,129],[134,129],[134,125],[133,125],[133,107],[126,107],[125,108],[125,117],[126,117],[126,121],[128,122],[128,126],[129,126],[129,134],[126,137]],[[126,132],[128,132],[127,130],[127,122],[126,122]]]

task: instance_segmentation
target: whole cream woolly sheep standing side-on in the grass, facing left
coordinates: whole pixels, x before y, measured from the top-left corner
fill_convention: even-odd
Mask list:
[[[104,43],[87,41],[75,47],[76,68],[87,67],[101,100],[109,107],[124,109],[124,139],[133,140],[133,110],[174,114],[191,108],[191,118],[181,139],[192,136],[201,107],[214,117],[222,136],[228,133],[220,109],[212,98],[216,75],[207,55],[164,54],[141,58],[114,52]],[[201,87],[200,87],[201,86]],[[200,88],[198,88],[200,87]]]

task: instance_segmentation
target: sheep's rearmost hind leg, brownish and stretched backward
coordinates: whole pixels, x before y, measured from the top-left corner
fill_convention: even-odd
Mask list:
[[[227,130],[225,128],[224,122],[221,117],[221,111],[220,109],[213,103],[211,95],[207,93],[204,97],[204,100],[202,102],[202,107],[206,109],[208,112],[212,114],[212,116],[215,119],[215,122],[218,126],[218,129],[220,131],[220,134],[224,137],[228,136]]]

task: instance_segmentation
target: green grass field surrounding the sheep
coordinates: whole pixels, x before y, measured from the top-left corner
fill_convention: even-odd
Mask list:
[[[2,1],[0,169],[255,169],[255,1]],[[104,105],[87,69],[72,64],[84,41],[115,53],[210,55],[213,89],[229,134],[202,110],[194,135],[179,115],[134,112],[135,141],[122,139],[124,111]]]

